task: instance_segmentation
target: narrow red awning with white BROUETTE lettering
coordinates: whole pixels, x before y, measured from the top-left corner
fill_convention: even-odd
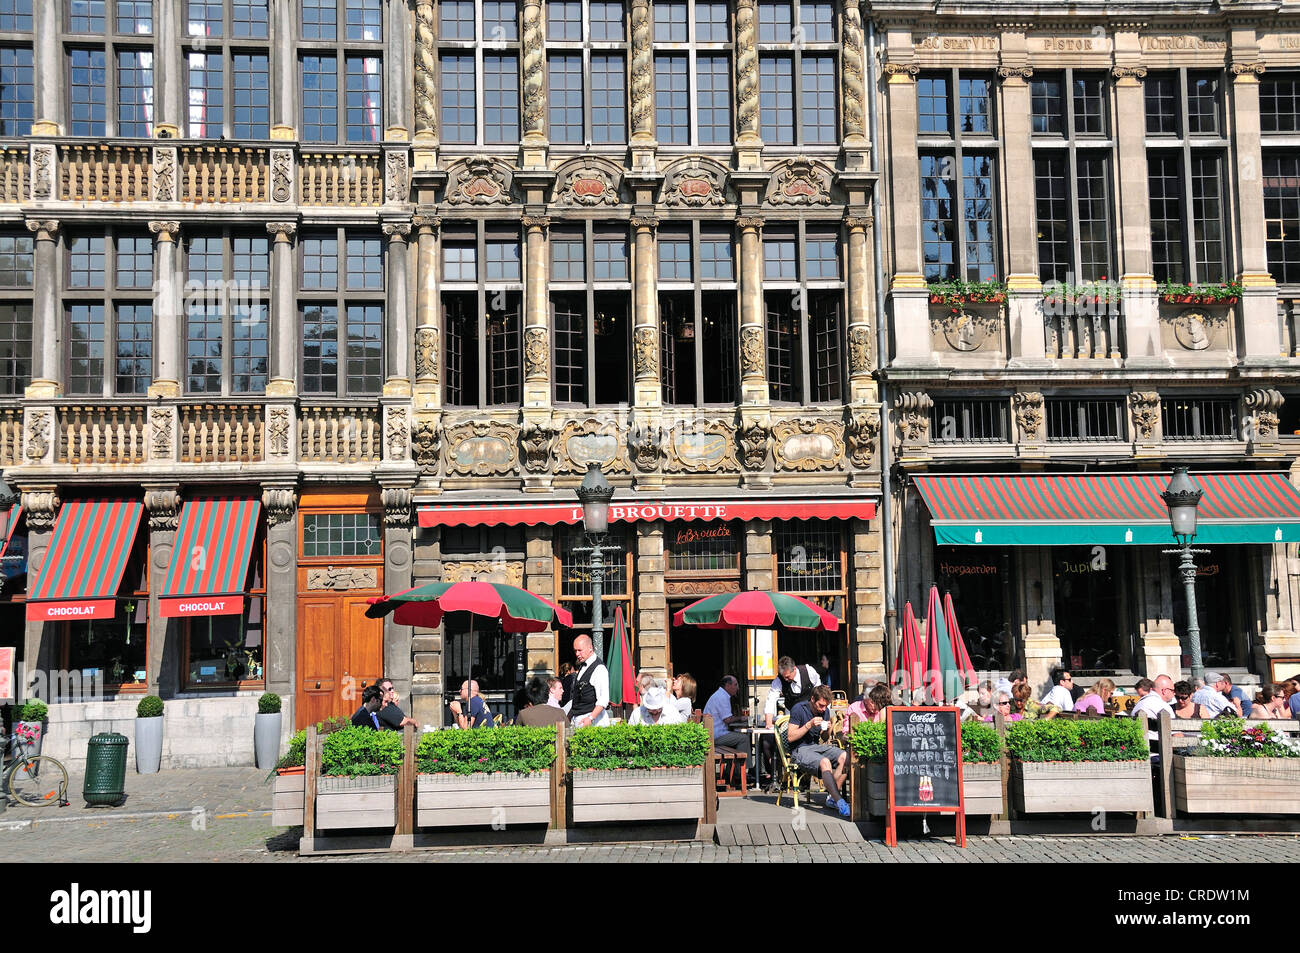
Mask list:
[[[611,523],[645,520],[870,520],[876,503],[853,501],[664,501],[610,503]],[[582,521],[578,503],[480,503],[421,506],[421,527],[556,527]]]

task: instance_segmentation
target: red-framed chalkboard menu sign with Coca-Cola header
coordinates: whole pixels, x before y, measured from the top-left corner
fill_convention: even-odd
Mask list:
[[[956,707],[885,709],[889,846],[898,842],[894,815],[900,813],[956,813],[957,844],[966,846],[959,716]]]

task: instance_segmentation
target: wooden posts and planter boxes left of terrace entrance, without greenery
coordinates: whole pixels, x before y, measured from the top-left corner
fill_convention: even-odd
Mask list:
[[[711,738],[708,716],[705,728]],[[307,729],[303,774],[276,777],[272,824],[302,824],[303,854],[634,837],[712,840],[718,797],[711,744],[697,767],[575,771],[566,764],[564,729],[555,727],[554,766],[528,775],[421,775],[417,735],[407,727],[396,775],[334,777],[320,774],[322,736],[313,725]],[[632,832],[625,822],[666,823]]]

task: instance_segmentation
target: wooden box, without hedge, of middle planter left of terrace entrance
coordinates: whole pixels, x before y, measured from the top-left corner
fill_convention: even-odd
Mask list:
[[[549,824],[551,772],[530,775],[420,775],[416,827]]]

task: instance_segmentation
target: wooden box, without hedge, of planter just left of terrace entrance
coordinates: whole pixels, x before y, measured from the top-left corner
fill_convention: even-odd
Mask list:
[[[699,820],[705,816],[705,768],[573,771],[573,822]]]

